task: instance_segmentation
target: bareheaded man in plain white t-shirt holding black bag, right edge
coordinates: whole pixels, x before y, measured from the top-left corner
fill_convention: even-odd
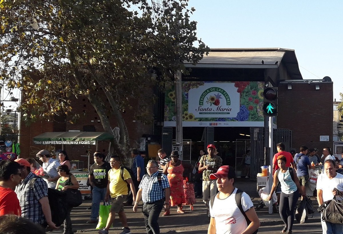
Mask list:
[[[324,173],[318,176],[317,180],[317,200],[318,205],[321,206],[323,202],[332,200],[337,192],[333,190],[338,189],[343,193],[343,175],[335,171],[335,162],[331,159],[324,163]],[[336,196],[337,200],[341,200]],[[321,221],[323,234],[342,234],[343,224],[335,224]]]

